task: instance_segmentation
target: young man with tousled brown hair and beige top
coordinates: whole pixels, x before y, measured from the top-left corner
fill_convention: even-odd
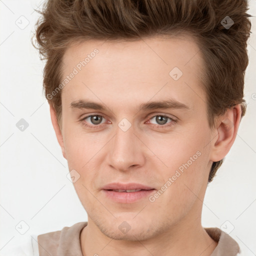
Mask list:
[[[241,117],[245,0],[48,0],[36,39],[63,156],[88,221],[39,255],[225,255],[207,183]]]

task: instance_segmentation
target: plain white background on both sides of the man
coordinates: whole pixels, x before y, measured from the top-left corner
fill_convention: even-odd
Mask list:
[[[0,0],[0,253],[30,237],[87,221],[63,158],[42,93],[43,61],[30,38],[43,1]],[[256,1],[249,1],[256,16]],[[20,17],[23,16],[23,17]],[[29,24],[21,29],[16,24]],[[243,255],[256,255],[256,23],[250,18],[249,65],[245,75],[247,111],[236,140],[206,190],[202,225],[224,226]],[[21,24],[20,24],[21,25]],[[253,99],[254,95],[254,99]],[[20,131],[24,118],[29,126]],[[29,229],[20,234],[15,226]],[[21,228],[21,229],[22,229]]]

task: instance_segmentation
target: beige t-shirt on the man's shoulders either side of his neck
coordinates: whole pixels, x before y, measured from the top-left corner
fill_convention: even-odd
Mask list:
[[[39,256],[82,256],[80,232],[87,222],[78,222],[62,230],[48,232],[37,236]],[[211,256],[240,255],[238,243],[217,227],[204,228],[209,236],[218,242]]]

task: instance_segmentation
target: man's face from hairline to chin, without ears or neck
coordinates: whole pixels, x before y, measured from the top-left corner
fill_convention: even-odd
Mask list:
[[[91,225],[141,240],[200,221],[213,134],[194,41],[85,41],[69,47],[63,63],[63,79],[74,74],[61,94],[63,154]],[[171,100],[169,108],[149,104]],[[103,189],[113,182],[153,189]]]

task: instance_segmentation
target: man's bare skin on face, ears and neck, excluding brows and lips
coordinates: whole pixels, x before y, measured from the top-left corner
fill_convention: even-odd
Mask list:
[[[63,55],[63,77],[94,48],[99,52],[62,89],[60,127],[50,107],[69,170],[80,175],[73,184],[88,215],[80,234],[83,255],[210,255],[217,242],[201,226],[202,201],[212,161],[222,159],[234,142],[240,105],[210,129],[199,79],[203,60],[188,36],[75,43]],[[176,81],[169,75],[175,66],[183,72]],[[169,98],[189,109],[138,111],[141,103]],[[72,108],[79,99],[106,110]],[[89,114],[103,116],[100,124],[81,120]],[[176,121],[159,122],[157,115]],[[118,126],[123,118],[131,124],[125,132]],[[153,202],[145,197],[117,203],[102,193],[110,182],[159,190],[197,151],[200,156]],[[123,221],[130,226],[125,234],[118,228]]]

